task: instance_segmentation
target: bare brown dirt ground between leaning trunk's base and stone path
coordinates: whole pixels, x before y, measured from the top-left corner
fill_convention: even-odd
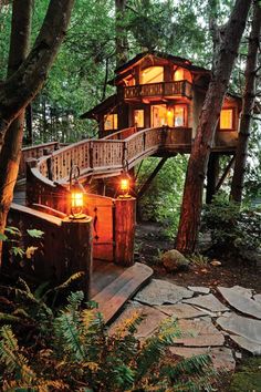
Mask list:
[[[160,264],[160,255],[174,249],[174,241],[164,235],[160,225],[154,223],[139,224],[136,233],[135,260],[150,266],[155,277],[164,277],[180,286],[207,286],[215,289],[217,286],[239,285],[261,292],[261,264],[243,265],[228,259],[218,259],[221,262],[218,267],[208,262],[191,265],[187,271],[168,274]]]

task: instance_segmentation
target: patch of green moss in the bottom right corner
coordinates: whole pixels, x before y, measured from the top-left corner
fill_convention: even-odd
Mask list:
[[[229,392],[261,392],[261,358],[249,358],[232,376]]]

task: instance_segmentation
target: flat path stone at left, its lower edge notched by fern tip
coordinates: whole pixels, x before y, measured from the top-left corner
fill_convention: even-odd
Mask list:
[[[126,320],[132,319],[134,314],[139,313],[144,316],[144,320],[137,327],[135,337],[144,339],[152,336],[158,329],[160,322],[167,318],[166,314],[159,310],[147,306],[128,306],[117,320],[108,328],[108,334],[112,336],[116,332],[117,328]]]

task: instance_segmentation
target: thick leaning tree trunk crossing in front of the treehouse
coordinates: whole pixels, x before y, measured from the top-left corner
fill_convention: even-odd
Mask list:
[[[176,247],[185,254],[192,252],[196,247],[209,154],[250,4],[251,0],[237,0],[230,19],[220,33],[219,55],[200,114],[184,189]]]

